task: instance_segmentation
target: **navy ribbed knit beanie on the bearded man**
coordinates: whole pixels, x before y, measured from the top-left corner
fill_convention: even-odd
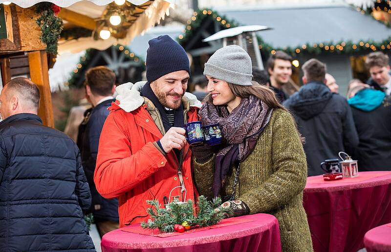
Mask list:
[[[150,47],[147,50],[146,65],[149,83],[170,72],[186,70],[190,74],[190,63],[185,49],[170,36],[159,36],[148,44]]]

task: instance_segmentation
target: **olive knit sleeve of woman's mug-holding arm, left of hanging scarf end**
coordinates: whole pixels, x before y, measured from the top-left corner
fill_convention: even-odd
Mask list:
[[[215,173],[215,157],[216,155],[213,155],[213,157],[205,163],[198,163],[193,159],[195,184],[198,193],[199,195],[207,197],[208,200],[212,200],[213,198],[212,185],[213,174]]]

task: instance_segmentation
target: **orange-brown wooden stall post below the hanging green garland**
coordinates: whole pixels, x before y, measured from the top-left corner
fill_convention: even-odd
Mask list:
[[[38,115],[42,118],[44,125],[54,127],[46,52],[43,50],[28,52],[28,62],[31,81],[37,84],[41,94]]]

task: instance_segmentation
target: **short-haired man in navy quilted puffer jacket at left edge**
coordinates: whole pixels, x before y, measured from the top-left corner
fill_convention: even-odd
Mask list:
[[[43,126],[38,87],[26,78],[0,95],[0,251],[95,251],[83,211],[91,203],[80,152]]]

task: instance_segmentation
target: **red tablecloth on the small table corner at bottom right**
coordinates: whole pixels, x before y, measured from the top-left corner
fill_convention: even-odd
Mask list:
[[[364,236],[364,245],[368,252],[390,252],[391,223],[370,229]]]

